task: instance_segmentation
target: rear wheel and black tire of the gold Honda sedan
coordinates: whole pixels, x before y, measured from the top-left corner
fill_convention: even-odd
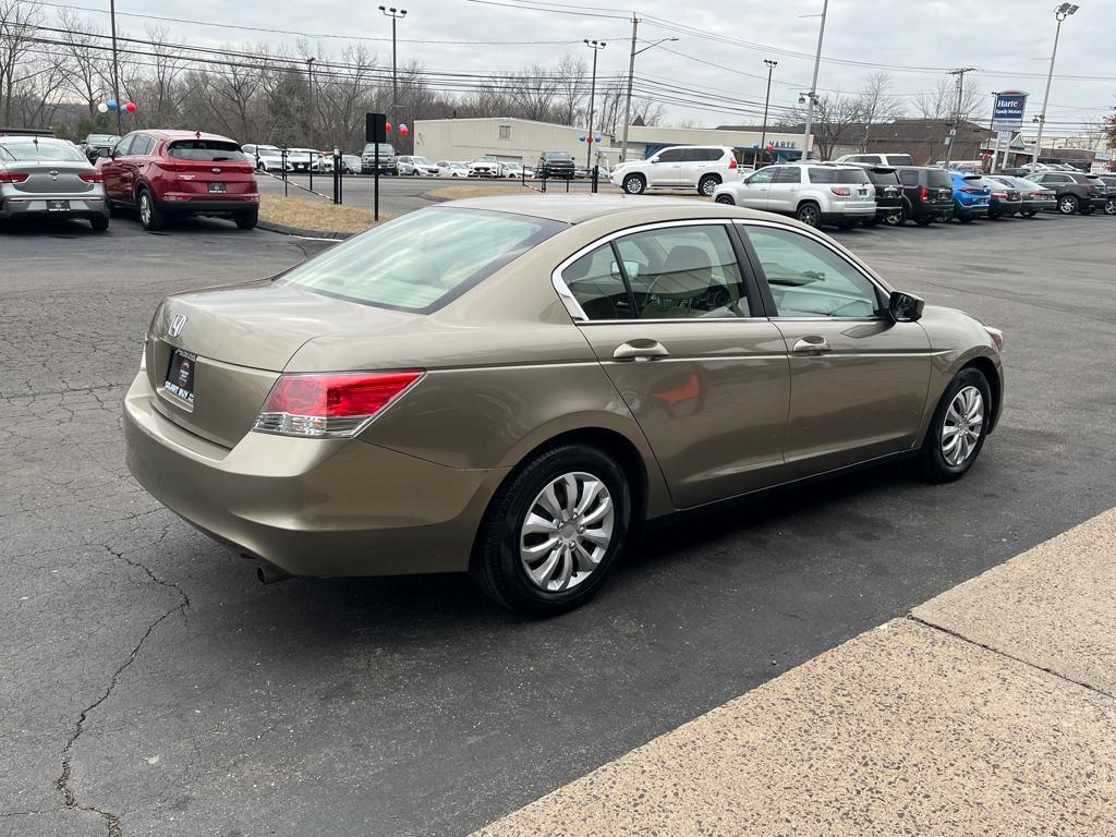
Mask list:
[[[603,451],[566,444],[521,465],[489,507],[470,575],[525,616],[556,616],[589,600],[624,550],[631,500]]]

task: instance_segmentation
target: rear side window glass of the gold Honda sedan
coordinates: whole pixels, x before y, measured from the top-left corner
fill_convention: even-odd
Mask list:
[[[752,316],[723,224],[624,235],[571,263],[562,280],[589,319]]]

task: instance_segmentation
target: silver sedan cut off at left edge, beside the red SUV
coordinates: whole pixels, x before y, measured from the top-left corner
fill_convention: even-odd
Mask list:
[[[65,140],[0,137],[0,220],[55,215],[84,218],[108,229],[104,175]]]

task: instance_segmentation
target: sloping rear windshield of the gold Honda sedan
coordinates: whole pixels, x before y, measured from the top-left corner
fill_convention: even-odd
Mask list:
[[[426,314],[565,227],[529,215],[431,208],[349,239],[277,281],[354,302]]]

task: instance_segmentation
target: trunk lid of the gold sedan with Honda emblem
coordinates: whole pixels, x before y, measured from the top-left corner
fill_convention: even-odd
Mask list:
[[[299,347],[315,337],[391,334],[421,315],[347,302],[269,280],[170,297],[152,323],[145,359],[156,408],[196,435],[233,448]],[[189,388],[180,383],[183,362]]]

